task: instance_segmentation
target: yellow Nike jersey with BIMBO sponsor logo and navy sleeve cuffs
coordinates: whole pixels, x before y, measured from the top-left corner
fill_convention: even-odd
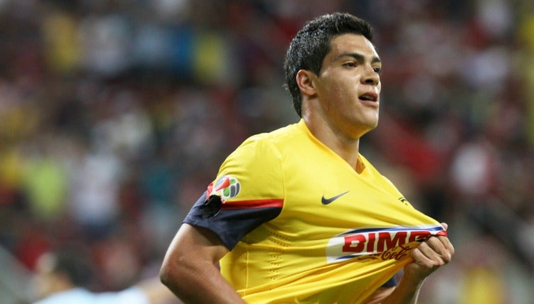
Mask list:
[[[360,303],[420,241],[446,232],[361,154],[358,163],[300,120],[248,138],[184,221],[229,248],[221,273],[248,303]]]

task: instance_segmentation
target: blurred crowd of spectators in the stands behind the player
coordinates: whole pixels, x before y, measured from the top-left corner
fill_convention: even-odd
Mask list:
[[[534,4],[520,0],[1,0],[0,302],[83,244],[95,291],[156,275],[248,136],[297,122],[282,88],[304,22],[370,22],[384,63],[362,153],[449,225],[421,303],[533,303]]]

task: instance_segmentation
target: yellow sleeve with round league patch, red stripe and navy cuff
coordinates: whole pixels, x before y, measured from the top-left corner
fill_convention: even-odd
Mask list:
[[[272,220],[284,204],[280,154],[264,135],[239,146],[184,223],[214,232],[232,250],[246,234]]]

